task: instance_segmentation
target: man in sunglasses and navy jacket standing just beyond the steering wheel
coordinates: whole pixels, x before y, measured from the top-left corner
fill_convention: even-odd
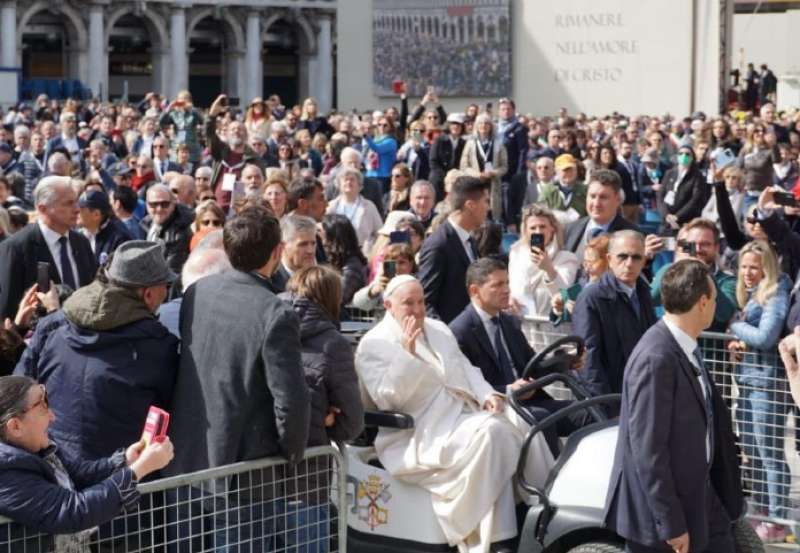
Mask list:
[[[641,233],[615,232],[608,245],[609,270],[578,296],[572,331],[586,342],[581,375],[593,395],[621,391],[628,357],[656,322],[650,289],[640,278],[646,261]],[[608,411],[616,416],[618,408]]]

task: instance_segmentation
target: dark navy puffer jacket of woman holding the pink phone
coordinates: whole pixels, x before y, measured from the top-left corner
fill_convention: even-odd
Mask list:
[[[61,462],[75,490],[59,484],[50,456]],[[3,551],[52,551],[52,537],[40,541],[32,534],[88,530],[138,500],[136,477],[125,466],[122,451],[96,461],[80,461],[54,445],[34,454],[0,442],[0,515],[27,529],[24,541],[21,526],[12,525],[9,532],[2,532]]]

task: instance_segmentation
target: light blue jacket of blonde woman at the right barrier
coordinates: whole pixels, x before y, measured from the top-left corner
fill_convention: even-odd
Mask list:
[[[743,319],[731,324],[731,332],[747,344],[742,362],[736,367],[737,383],[774,389],[785,379],[777,346],[789,313],[791,291],[792,281],[781,273],[778,289],[767,304],[762,306],[751,297],[744,306]]]

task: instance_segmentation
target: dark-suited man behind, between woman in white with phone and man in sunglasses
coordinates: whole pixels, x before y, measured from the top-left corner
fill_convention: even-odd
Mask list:
[[[583,250],[592,238],[618,230],[639,230],[619,212],[622,205],[622,181],[616,172],[598,169],[592,172],[586,194],[586,217],[567,226],[565,249],[583,257]]]

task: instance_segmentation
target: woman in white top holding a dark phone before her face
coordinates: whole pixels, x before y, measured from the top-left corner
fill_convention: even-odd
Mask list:
[[[580,262],[574,253],[563,249],[564,229],[546,207],[527,206],[522,210],[521,223],[520,239],[509,252],[511,301],[523,316],[547,316],[553,294],[572,286]],[[547,345],[544,336],[530,333],[534,349]]]

